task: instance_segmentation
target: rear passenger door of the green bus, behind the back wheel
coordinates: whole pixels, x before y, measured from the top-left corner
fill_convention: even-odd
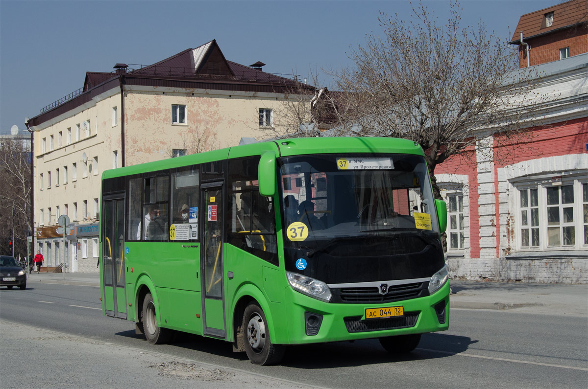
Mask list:
[[[102,290],[107,316],[126,318],[125,200],[104,199],[102,203]]]

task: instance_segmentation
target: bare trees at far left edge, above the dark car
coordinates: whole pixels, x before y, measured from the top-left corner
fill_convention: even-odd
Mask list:
[[[15,255],[26,256],[31,231],[31,159],[29,143],[2,139],[0,143],[0,251],[12,255],[8,240],[14,228]]]

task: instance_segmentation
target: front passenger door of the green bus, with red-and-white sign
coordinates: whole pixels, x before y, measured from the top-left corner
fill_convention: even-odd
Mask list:
[[[203,332],[225,338],[224,261],[223,236],[223,186],[220,183],[201,185],[203,219],[201,224],[201,283]]]

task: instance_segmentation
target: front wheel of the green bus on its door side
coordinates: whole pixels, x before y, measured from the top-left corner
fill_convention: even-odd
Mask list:
[[[258,303],[252,301],[243,313],[243,340],[245,352],[251,363],[256,365],[272,365],[279,363],[286,351],[282,344],[273,344],[268,321]]]

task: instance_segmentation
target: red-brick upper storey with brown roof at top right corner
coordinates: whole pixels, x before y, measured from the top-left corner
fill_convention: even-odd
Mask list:
[[[521,16],[509,42],[519,45],[519,67],[588,52],[587,15],[586,0],[572,0]]]

